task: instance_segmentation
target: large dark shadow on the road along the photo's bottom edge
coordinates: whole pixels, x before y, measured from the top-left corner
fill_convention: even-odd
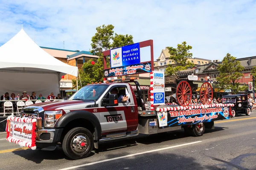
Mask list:
[[[105,162],[76,168],[76,170],[223,170],[225,165],[203,165],[199,158],[180,156],[165,151],[129,156],[121,159],[108,159],[127,156],[132,153],[108,154]],[[210,159],[209,159],[210,160]],[[217,161],[216,161],[217,163]]]

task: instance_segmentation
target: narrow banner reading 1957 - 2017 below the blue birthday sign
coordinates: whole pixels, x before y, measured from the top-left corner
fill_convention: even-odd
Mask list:
[[[139,63],[134,65],[111,68],[104,71],[104,77],[127,76],[131,74],[150,73],[151,63]]]

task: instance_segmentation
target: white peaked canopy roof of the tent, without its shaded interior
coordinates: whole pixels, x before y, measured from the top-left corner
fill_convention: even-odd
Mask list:
[[[52,57],[40,48],[23,29],[0,47],[0,68],[16,68],[22,71],[47,69],[49,72],[60,72],[75,77],[78,74],[77,67],[67,65]]]

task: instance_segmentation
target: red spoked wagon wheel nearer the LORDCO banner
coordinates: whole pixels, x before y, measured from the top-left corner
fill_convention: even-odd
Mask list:
[[[180,106],[188,106],[192,99],[192,90],[187,81],[181,81],[176,89],[177,104]]]

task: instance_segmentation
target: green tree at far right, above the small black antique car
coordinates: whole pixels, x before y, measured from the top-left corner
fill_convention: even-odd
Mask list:
[[[245,86],[239,86],[239,79],[243,77],[242,71],[244,67],[236,60],[236,57],[229,53],[223,58],[222,63],[218,65],[220,72],[217,77],[219,90],[230,89],[232,94],[237,94],[239,91],[244,91]]]

